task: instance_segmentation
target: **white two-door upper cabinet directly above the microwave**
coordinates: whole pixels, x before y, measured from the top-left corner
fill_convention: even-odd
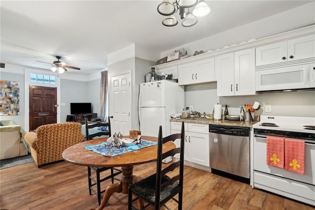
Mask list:
[[[315,57],[315,35],[256,48],[256,66]]]

